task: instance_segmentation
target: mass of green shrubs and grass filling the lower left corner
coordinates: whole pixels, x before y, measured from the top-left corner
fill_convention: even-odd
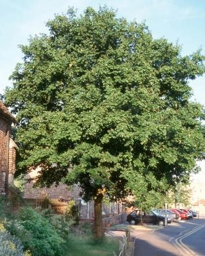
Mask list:
[[[13,212],[11,202],[0,197],[0,255],[109,256],[118,251],[116,239],[94,239],[91,225],[76,225],[73,215],[56,215],[50,209],[28,206]]]

